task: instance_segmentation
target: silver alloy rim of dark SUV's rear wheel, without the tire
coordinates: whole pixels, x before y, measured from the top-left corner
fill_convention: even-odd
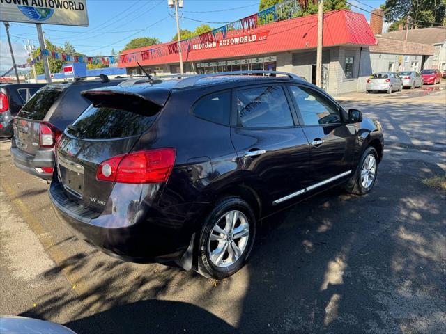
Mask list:
[[[208,257],[220,268],[229,267],[243,255],[249,239],[249,222],[238,210],[224,213],[208,239]]]

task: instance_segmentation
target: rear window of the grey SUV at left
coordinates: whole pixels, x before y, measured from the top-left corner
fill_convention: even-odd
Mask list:
[[[39,90],[26,102],[17,117],[27,118],[29,120],[43,120],[49,108],[51,108],[57,98],[63,93],[63,90],[65,88]]]

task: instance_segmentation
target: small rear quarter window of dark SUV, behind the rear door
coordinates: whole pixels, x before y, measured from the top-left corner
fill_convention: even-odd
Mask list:
[[[210,122],[229,125],[231,92],[220,92],[202,97],[192,109],[192,114]]]

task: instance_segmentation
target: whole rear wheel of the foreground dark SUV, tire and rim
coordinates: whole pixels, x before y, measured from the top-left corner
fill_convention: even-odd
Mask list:
[[[256,235],[256,219],[245,200],[226,197],[215,205],[201,226],[197,271],[207,278],[223,279],[247,262]]]

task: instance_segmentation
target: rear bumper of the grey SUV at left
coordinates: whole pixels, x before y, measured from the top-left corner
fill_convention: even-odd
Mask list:
[[[11,141],[11,155],[17,168],[24,170],[26,173],[41,177],[44,180],[52,179],[52,173],[45,173],[41,170],[42,167],[54,168],[54,152],[52,150],[39,150],[34,156],[26,154],[17,148],[13,138]]]

